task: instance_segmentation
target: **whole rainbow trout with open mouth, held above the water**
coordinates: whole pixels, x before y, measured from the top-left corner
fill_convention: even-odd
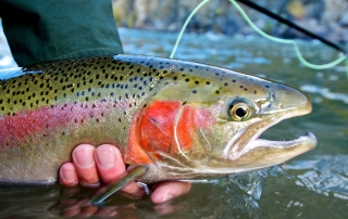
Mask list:
[[[229,69],[115,55],[14,73],[21,76],[0,80],[5,183],[55,182],[80,143],[117,145],[129,168],[146,167],[132,177],[145,183],[256,170],[316,145],[312,133],[259,139],[278,121],[310,113],[311,103],[296,89]]]

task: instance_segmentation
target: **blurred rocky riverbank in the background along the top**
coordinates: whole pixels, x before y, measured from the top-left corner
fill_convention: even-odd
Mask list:
[[[177,31],[201,0],[113,0],[120,26]],[[347,0],[258,0],[258,4],[335,42],[348,42]],[[265,33],[283,38],[309,39],[278,22],[239,3]],[[211,0],[192,18],[188,31],[254,35],[227,0]]]

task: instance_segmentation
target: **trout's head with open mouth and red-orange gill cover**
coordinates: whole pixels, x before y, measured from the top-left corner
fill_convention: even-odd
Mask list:
[[[186,66],[194,70],[175,80],[167,77],[137,117],[138,142],[167,178],[256,170],[315,147],[312,133],[293,141],[259,139],[281,120],[310,113],[306,94],[228,69],[195,67]]]

